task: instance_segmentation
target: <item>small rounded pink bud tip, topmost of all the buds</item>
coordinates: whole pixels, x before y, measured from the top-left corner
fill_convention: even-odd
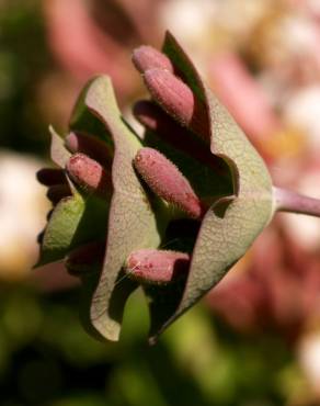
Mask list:
[[[171,60],[164,54],[148,45],[142,45],[134,50],[133,63],[141,74],[152,68],[167,69],[173,72]]]

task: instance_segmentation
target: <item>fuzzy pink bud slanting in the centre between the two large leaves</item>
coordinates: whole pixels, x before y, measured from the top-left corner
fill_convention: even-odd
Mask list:
[[[157,149],[141,148],[135,157],[134,166],[158,196],[176,205],[190,217],[202,216],[202,203],[187,179]]]

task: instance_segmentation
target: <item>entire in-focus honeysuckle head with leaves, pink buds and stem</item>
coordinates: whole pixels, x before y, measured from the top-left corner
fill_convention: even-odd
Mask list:
[[[267,168],[175,38],[134,50],[151,98],[134,105],[138,136],[108,77],[81,92],[68,133],[52,128],[57,168],[37,174],[53,211],[38,264],[65,261],[82,281],[82,319],[117,340],[141,286],[149,340],[215,286],[276,211],[320,215],[317,200],[273,187]]]

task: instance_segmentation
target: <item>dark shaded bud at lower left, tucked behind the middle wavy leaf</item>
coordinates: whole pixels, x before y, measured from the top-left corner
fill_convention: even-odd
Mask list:
[[[79,275],[92,272],[100,268],[105,251],[104,243],[90,243],[73,249],[65,261],[68,272]]]

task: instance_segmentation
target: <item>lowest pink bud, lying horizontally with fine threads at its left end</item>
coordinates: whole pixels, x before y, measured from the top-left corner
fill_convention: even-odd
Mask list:
[[[185,252],[140,249],[129,255],[126,273],[141,282],[167,284],[188,270],[190,256]]]

